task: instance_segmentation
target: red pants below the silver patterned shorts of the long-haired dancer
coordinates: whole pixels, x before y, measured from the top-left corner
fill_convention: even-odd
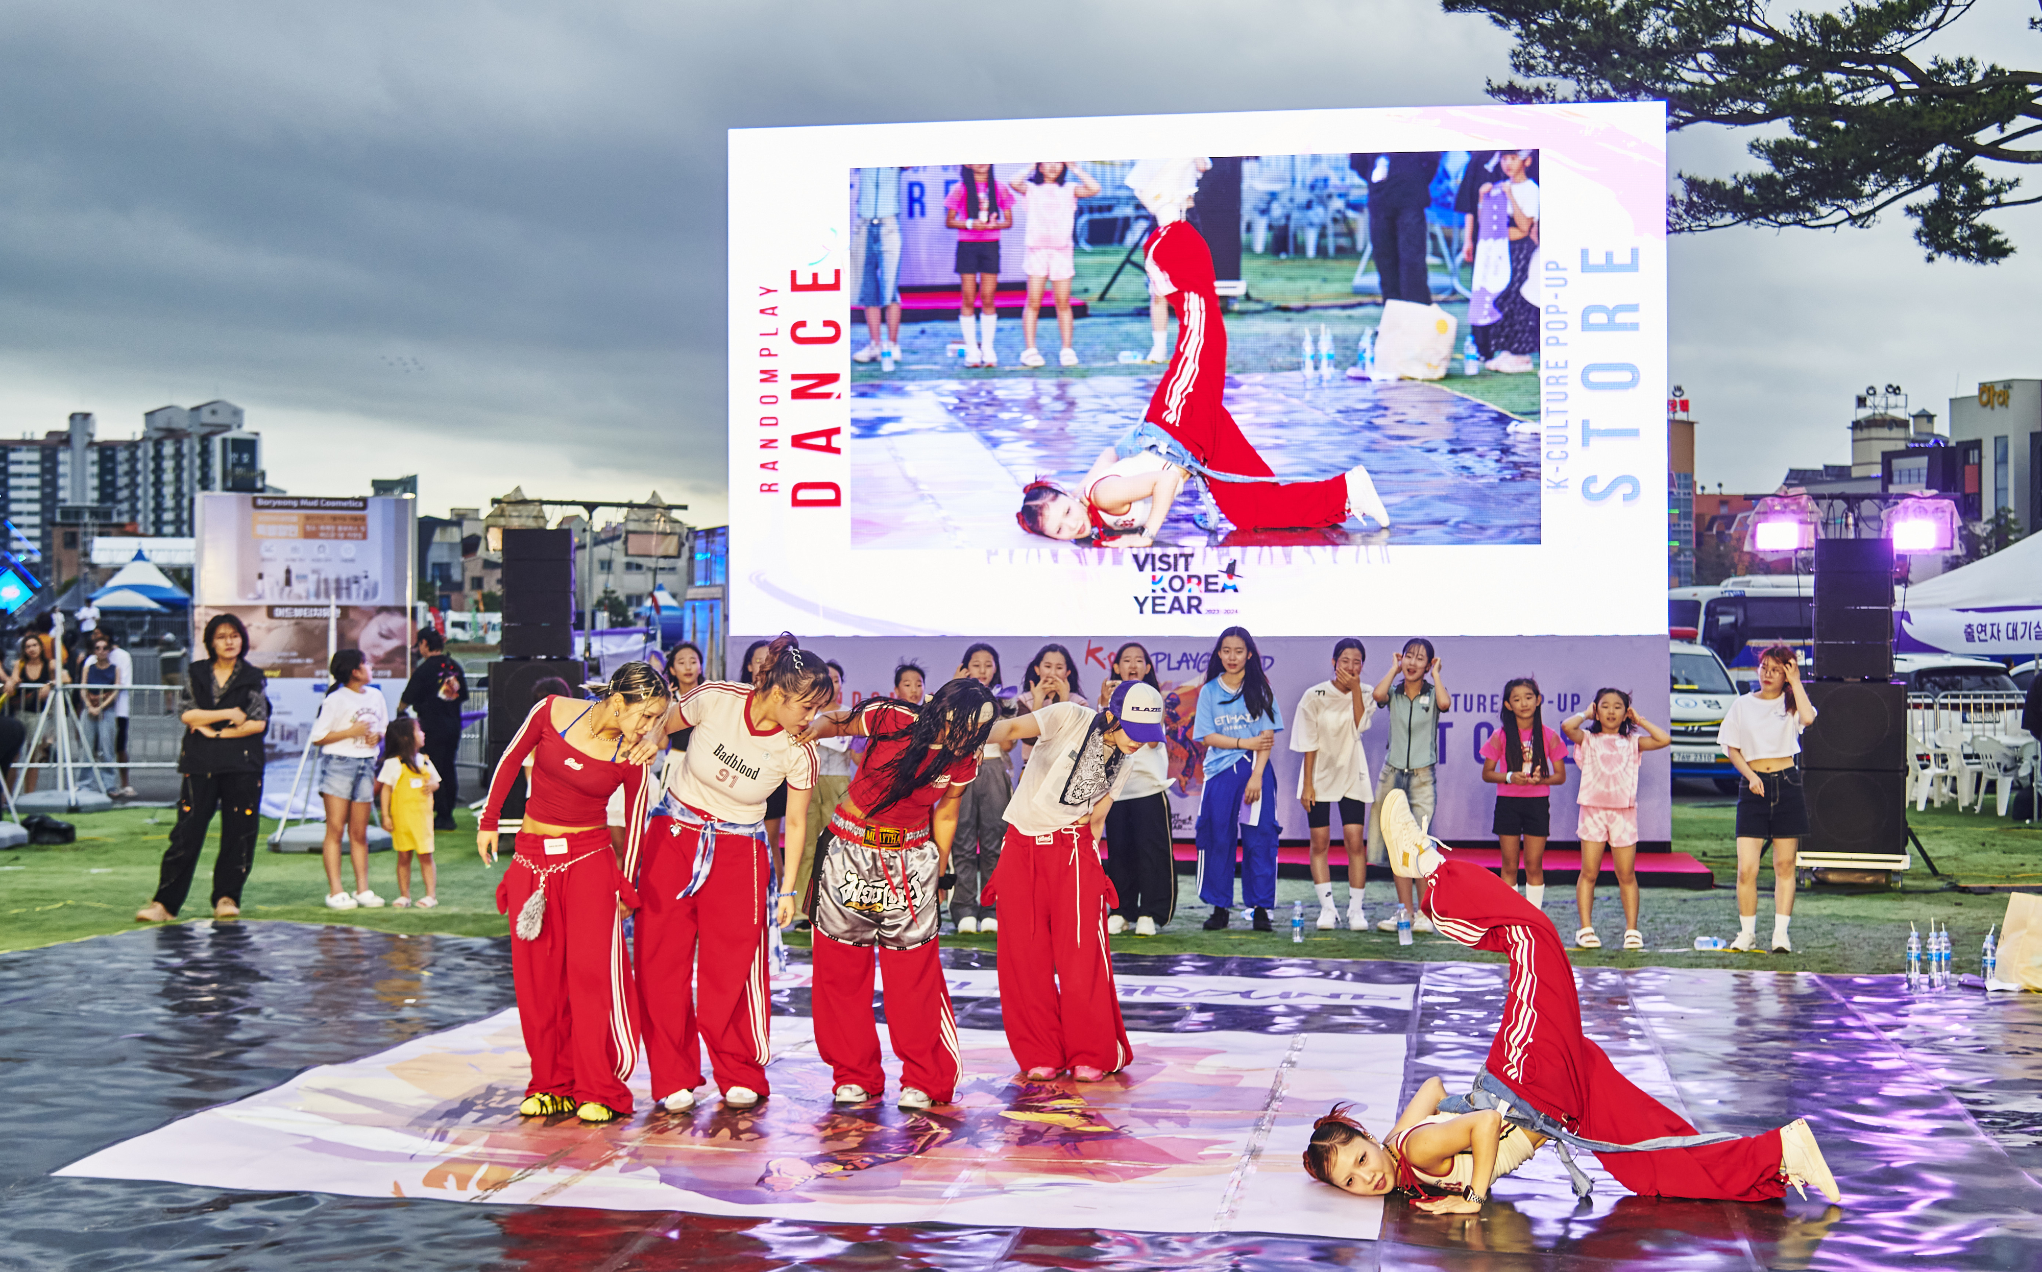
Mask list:
[[[886,1090],[880,1029],[872,1015],[874,962],[886,994],[886,1037],[901,1058],[901,1086],[913,1086],[937,1105],[947,1105],[958,1094],[964,1056],[935,941],[915,949],[884,945],[874,949],[833,941],[817,929],[815,1049],[829,1062],[831,1084],[864,1086],[872,1094]]]

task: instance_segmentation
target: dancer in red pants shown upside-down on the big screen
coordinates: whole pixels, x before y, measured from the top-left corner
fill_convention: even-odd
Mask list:
[[[1176,351],[1148,414],[1107,447],[1076,492],[1031,482],[1021,496],[1021,527],[1048,539],[1131,535],[1115,547],[1148,547],[1170,502],[1197,474],[1219,512],[1239,531],[1342,525],[1350,515],[1389,527],[1391,515],[1362,466],[1319,482],[1278,482],[1227,414],[1227,325],[1219,316],[1213,251],[1184,210],[1199,190],[1195,159],[1144,159],[1127,186],[1156,216],[1144,267],[1150,288],[1176,308]]]

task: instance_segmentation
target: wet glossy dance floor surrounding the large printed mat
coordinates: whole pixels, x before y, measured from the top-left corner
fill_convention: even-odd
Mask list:
[[[984,970],[974,951],[945,953]],[[1125,958],[1129,974],[1417,986],[1415,1011],[1131,1002],[1150,1031],[1401,1031],[1405,1090],[1464,1084],[1501,1009],[1491,964]],[[2042,1002],[1909,998],[1897,978],[1583,970],[1589,1033],[1705,1129],[1807,1117],[1846,1207],[1652,1201],[1542,1154],[1474,1219],[1393,1201],[1380,1241],[1056,1227],[813,1225],[572,1207],[51,1178],[90,1152],[510,1005],[502,941],[194,923],[0,956],[4,1268],[2034,1268]],[[807,1015],[807,990],[776,1011]],[[960,1025],[994,1027],[968,998]],[[1264,1162],[1264,1170],[1282,1168]],[[1054,1219],[1046,1215],[1046,1219]],[[1133,1219],[1133,1217],[1131,1217]]]

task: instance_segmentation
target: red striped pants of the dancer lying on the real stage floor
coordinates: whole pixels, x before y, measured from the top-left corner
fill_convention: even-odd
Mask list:
[[[1511,960],[1503,1023],[1489,1045],[1493,1076],[1585,1139],[1638,1143],[1697,1133],[1583,1035],[1574,968],[1552,919],[1493,872],[1466,862],[1448,860],[1427,884],[1425,911],[1442,935]],[[1779,1131],[1701,1147],[1597,1154],[1597,1160],[1619,1184],[1646,1196],[1770,1201],[1787,1190]]]

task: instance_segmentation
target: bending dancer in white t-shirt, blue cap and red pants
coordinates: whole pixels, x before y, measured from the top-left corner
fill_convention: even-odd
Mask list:
[[[1127,1068],[1107,956],[1113,884],[1099,831],[1127,784],[1127,755],[1164,745],[1162,694],[1123,680],[1105,711],[1054,702],[992,727],[992,741],[1039,739],[1007,802],[1007,843],[980,904],[999,907],[1001,1017],[1029,1078],[1070,1070],[1097,1082]]]

